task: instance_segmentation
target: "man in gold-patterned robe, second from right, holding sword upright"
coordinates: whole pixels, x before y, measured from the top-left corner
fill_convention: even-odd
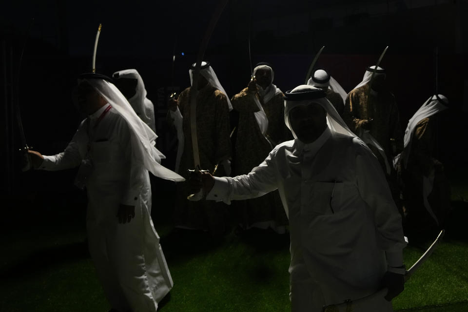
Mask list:
[[[370,81],[372,72],[375,74]],[[370,147],[390,176],[391,160],[403,150],[403,131],[395,97],[385,78],[383,68],[368,67],[361,83],[346,98],[343,120]]]

